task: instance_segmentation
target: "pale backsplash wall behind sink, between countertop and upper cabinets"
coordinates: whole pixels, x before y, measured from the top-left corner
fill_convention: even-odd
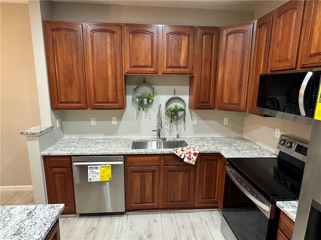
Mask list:
[[[155,89],[153,102],[144,111],[137,110],[137,103],[133,100],[133,89],[142,82],[146,82]],[[170,117],[165,114],[165,103],[176,94],[189,104],[188,76],[141,76],[128,75],[126,77],[126,108],[124,110],[63,110],[59,114],[63,120],[65,136],[156,136],[157,105],[162,104],[163,136],[180,135],[242,135],[244,113],[219,110],[191,110],[183,118],[170,123]],[[90,117],[96,117],[96,125],[90,125]],[[111,124],[111,117],[117,117],[117,125]],[[198,117],[198,124],[192,125],[192,116]],[[229,117],[229,125],[223,125],[223,117]]]

